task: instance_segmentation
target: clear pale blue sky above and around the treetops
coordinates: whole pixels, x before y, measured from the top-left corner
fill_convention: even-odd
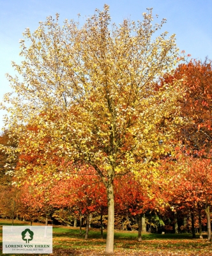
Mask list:
[[[0,102],[4,93],[11,92],[5,74],[15,73],[11,61],[20,63],[19,40],[25,28],[34,31],[39,21],[59,13],[61,24],[64,19],[86,20],[95,9],[110,6],[112,22],[119,24],[123,19],[142,20],[146,8],[153,8],[158,20],[167,19],[163,31],[176,34],[179,51],[191,54],[192,58],[212,59],[212,0],[0,0]],[[160,22],[158,22],[160,23]],[[0,129],[3,115],[0,110]]]

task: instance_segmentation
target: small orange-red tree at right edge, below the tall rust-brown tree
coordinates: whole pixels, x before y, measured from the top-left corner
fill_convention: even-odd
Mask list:
[[[208,156],[208,154],[207,154]],[[176,172],[176,169],[178,172]],[[195,216],[201,228],[202,211],[205,211],[208,223],[208,241],[211,241],[211,159],[178,154],[175,163],[169,162],[168,182],[162,181],[163,195],[167,197],[173,211],[182,211],[190,215],[192,234],[195,237]]]

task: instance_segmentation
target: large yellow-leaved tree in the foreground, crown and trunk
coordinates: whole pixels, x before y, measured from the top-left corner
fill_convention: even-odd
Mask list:
[[[142,21],[125,19],[116,26],[105,4],[81,28],[73,20],[59,26],[59,15],[40,22],[34,33],[27,28],[26,40],[20,40],[24,60],[13,63],[22,79],[8,75],[15,94],[4,98],[11,106],[6,124],[24,141],[19,153],[42,152],[40,164],[48,166],[53,152],[63,162],[93,166],[100,176],[107,190],[109,253],[114,251],[114,177],[148,172],[158,154],[170,152],[168,141],[180,122],[181,82],[155,86],[176,64],[175,36],[158,33],[165,19],[153,25],[151,9],[142,15]],[[27,168],[26,162],[19,175]],[[63,172],[69,172],[68,164]]]

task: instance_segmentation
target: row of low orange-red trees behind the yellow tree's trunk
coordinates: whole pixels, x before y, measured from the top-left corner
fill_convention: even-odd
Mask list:
[[[166,170],[166,175],[160,177],[158,182],[149,173],[148,177],[146,175],[140,181],[133,175],[114,180],[117,228],[122,224],[123,227],[128,225],[128,228],[140,231],[140,218],[146,214],[146,221],[152,225],[153,230],[160,228],[160,231],[172,232],[175,226],[174,231],[178,232],[180,229],[177,225],[181,223],[181,232],[185,232],[191,221],[193,236],[195,227],[200,228],[201,234],[202,224],[206,223],[204,211],[208,213],[212,201],[211,163],[209,159],[185,156],[179,156],[178,163],[172,162],[172,159],[165,159],[161,168]],[[181,170],[176,172],[179,164]],[[72,173],[68,178],[60,173],[59,178],[50,176],[49,180],[35,182],[33,186],[27,182],[20,188],[12,186],[11,180],[2,185],[1,216],[24,218],[31,222],[53,218],[69,225],[79,220],[80,232],[84,218],[87,219],[87,238],[89,220],[93,214],[98,220],[96,225],[101,227],[103,233],[103,224],[107,227],[107,198],[105,187],[92,168],[82,168],[77,175]],[[188,216],[190,219],[185,221]]]

